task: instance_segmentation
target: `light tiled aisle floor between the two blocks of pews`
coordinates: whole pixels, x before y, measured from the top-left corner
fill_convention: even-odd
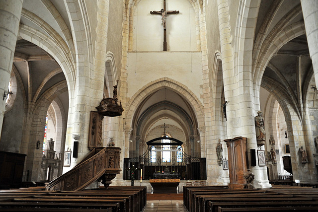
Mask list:
[[[149,200],[144,212],[187,212],[183,200]]]

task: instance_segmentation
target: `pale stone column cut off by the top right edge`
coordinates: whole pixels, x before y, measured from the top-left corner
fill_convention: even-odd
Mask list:
[[[318,87],[318,1],[301,0],[305,29],[312,59],[316,87]]]

